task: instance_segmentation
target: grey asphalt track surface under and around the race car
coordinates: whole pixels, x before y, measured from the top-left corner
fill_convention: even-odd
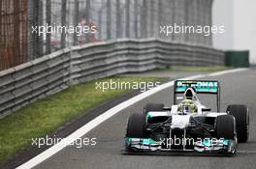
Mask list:
[[[250,137],[247,143],[239,144],[235,156],[216,155],[123,155],[123,138],[127,118],[132,112],[143,110],[146,102],[173,102],[173,87],[165,89],[130,106],[83,137],[96,138],[96,146],[80,149],[69,146],[37,165],[36,169],[200,169],[232,168],[244,169],[256,166],[256,70],[244,70],[204,79],[219,80],[221,84],[221,110],[228,104],[246,104],[250,110]],[[204,100],[202,100],[204,103]],[[205,100],[206,101],[206,100]],[[206,101],[207,102],[207,101]],[[213,101],[212,101],[213,102]]]

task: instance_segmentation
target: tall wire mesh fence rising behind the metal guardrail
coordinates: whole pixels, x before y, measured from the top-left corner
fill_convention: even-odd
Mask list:
[[[159,26],[174,23],[211,25],[211,3],[212,0],[1,0],[1,67],[12,67],[73,45],[117,39],[159,38],[211,45],[211,36],[166,36],[159,31]],[[9,12],[3,14],[6,8],[10,8]],[[15,46],[19,46],[18,50],[12,48]]]

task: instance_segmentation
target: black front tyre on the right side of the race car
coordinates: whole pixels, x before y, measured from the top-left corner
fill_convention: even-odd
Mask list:
[[[220,115],[216,118],[216,137],[224,139],[235,139],[236,122],[232,115]]]

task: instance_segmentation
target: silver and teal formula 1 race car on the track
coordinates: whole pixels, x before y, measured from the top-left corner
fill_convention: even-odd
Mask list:
[[[147,103],[143,112],[130,116],[125,153],[236,154],[238,142],[246,142],[249,136],[247,106],[229,105],[226,112],[220,112],[218,81],[176,80],[174,88],[172,107]],[[215,95],[217,111],[203,105],[200,94]]]

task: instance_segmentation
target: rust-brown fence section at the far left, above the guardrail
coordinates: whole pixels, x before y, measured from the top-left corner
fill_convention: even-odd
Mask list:
[[[0,70],[27,61],[27,3],[0,1]]]

